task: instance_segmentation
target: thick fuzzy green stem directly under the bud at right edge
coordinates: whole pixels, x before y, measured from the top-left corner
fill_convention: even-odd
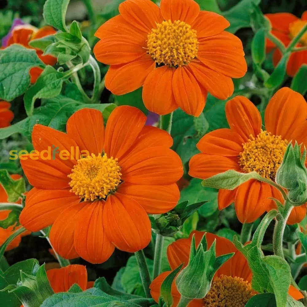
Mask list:
[[[290,216],[292,209],[293,205],[289,201],[286,201],[284,205],[283,214],[278,214],[276,216],[276,223],[273,233],[273,251],[275,255],[280,256],[282,258],[284,258],[282,239],[284,236],[287,220]]]

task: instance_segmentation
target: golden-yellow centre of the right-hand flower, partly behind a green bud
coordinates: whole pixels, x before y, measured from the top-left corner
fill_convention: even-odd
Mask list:
[[[257,172],[262,177],[274,180],[288,145],[279,135],[263,131],[243,144],[240,166],[245,173]]]

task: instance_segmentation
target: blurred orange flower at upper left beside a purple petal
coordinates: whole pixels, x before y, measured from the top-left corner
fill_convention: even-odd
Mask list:
[[[41,37],[45,37],[48,35],[53,35],[56,33],[56,30],[50,26],[45,26],[41,29],[37,29],[31,25],[19,25],[15,27],[12,31],[12,36],[8,40],[7,47],[12,44],[20,44],[26,48],[34,49],[29,46],[29,42],[38,39]],[[41,59],[43,63],[46,65],[53,66],[56,64],[57,59],[54,56],[43,55],[43,51],[40,49],[35,49],[37,56]],[[43,72],[43,69],[40,67],[33,67],[30,69],[31,83],[35,83],[37,78]]]

